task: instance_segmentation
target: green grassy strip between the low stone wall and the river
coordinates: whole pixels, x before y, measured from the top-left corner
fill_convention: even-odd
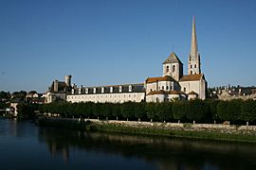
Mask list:
[[[143,128],[143,127],[124,127],[111,124],[97,124],[91,122],[77,122],[66,120],[46,120],[38,121],[39,126],[46,127],[62,127],[69,129],[79,129],[88,131],[101,131],[122,134],[136,134],[136,135],[149,135],[149,136],[165,136],[174,138],[189,138],[189,139],[204,139],[204,140],[217,140],[217,141],[235,141],[256,143],[256,135],[248,134],[228,134],[221,132],[210,131],[188,131],[188,130],[170,130],[159,128]]]

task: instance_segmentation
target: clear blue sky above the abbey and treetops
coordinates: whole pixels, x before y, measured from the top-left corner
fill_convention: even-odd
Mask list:
[[[209,86],[256,85],[256,1],[0,0],[0,91],[44,93],[161,76],[173,51],[187,74],[192,15]],[[174,47],[173,47],[174,46]]]

